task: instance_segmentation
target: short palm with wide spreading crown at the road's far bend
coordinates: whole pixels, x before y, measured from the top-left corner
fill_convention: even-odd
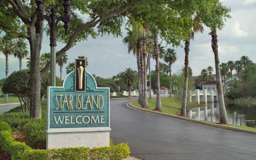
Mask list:
[[[138,73],[131,68],[126,68],[123,72],[119,73],[120,83],[127,85],[129,96],[131,95],[131,87],[136,86],[138,83]]]

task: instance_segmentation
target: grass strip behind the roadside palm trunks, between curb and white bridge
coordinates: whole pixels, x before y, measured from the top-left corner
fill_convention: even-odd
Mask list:
[[[163,113],[168,113],[172,115],[179,115],[180,109],[182,105],[182,99],[179,99],[177,97],[171,97],[171,98],[161,98],[162,102],[162,111]],[[138,101],[131,102],[132,105],[136,107],[141,107],[141,105],[138,103]],[[156,106],[156,99],[148,99],[148,109],[154,110]],[[196,103],[188,102],[187,104],[188,108],[195,108],[195,107],[201,107],[201,105],[198,105]]]

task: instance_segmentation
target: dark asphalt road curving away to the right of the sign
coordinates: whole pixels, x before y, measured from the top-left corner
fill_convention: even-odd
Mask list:
[[[159,116],[110,101],[114,143],[146,160],[256,160],[256,136]]]

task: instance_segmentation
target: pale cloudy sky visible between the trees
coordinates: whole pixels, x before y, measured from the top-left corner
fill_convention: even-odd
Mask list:
[[[231,8],[232,18],[227,20],[226,26],[218,31],[219,39],[219,58],[221,62],[228,60],[238,60],[241,56],[246,55],[252,61],[256,62],[256,0],[222,0],[223,4]],[[195,40],[191,42],[189,63],[193,75],[200,74],[200,71],[208,66],[214,67],[214,54],[211,49],[211,36],[208,35],[210,30],[205,27],[203,34],[197,34]],[[123,30],[123,36],[126,35]],[[49,37],[44,35],[42,51],[50,52]],[[165,45],[163,43],[163,45]],[[57,50],[64,47],[64,44],[58,43]],[[170,48],[171,46],[166,46]],[[173,65],[172,71],[176,72],[183,67],[184,50],[175,48],[178,60]],[[69,62],[79,55],[88,57],[89,66],[87,71],[104,78],[111,77],[123,71],[125,68],[136,70],[136,58],[129,55],[127,47],[122,43],[122,37],[114,38],[113,36],[103,36],[97,39],[89,38],[88,41],[78,43],[68,52]],[[19,69],[18,59],[10,56],[9,74]],[[25,69],[25,60],[23,68]],[[67,64],[66,64],[67,65]],[[64,65],[64,68],[66,67]],[[152,60],[151,68],[154,69],[155,62]],[[5,56],[0,53],[0,78],[5,77]],[[60,75],[59,67],[56,68],[57,76]],[[66,76],[64,69],[63,77]],[[215,71],[214,71],[215,72]]]

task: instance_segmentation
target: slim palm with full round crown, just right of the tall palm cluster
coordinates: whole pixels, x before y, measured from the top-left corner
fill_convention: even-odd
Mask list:
[[[172,64],[177,60],[177,53],[174,49],[168,48],[164,54],[164,61],[169,63],[169,77],[170,77],[170,96],[172,97]]]

